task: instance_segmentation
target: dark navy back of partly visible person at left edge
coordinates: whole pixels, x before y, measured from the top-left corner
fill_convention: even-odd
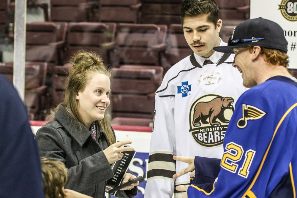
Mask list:
[[[44,198],[40,158],[26,107],[0,75],[0,197]]]

